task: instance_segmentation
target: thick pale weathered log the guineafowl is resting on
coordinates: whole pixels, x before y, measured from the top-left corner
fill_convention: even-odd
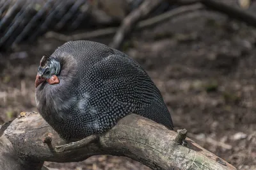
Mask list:
[[[44,161],[79,162],[93,155],[116,155],[152,169],[236,169],[184,136],[186,130],[180,133],[182,144],[175,142],[180,141],[177,132],[129,114],[97,138],[86,137],[91,143],[83,145],[82,139],[66,144],[40,114],[21,112],[0,129],[0,165],[3,169],[36,170]]]

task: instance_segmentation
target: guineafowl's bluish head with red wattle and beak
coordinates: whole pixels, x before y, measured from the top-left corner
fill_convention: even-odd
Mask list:
[[[40,66],[38,67],[35,87],[37,88],[37,86],[43,82],[48,82],[49,84],[58,84],[60,82],[58,79],[60,70],[61,66],[58,59],[52,58],[51,56],[43,56],[40,61]]]

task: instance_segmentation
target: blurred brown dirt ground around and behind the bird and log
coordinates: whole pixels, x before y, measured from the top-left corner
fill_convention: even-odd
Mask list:
[[[97,40],[108,43],[108,40]],[[40,38],[1,53],[0,124],[36,111],[40,58],[63,42]],[[124,50],[152,77],[175,130],[238,169],[256,169],[256,29],[213,12],[193,13],[135,33]],[[148,169],[122,157],[95,156],[56,169]]]

